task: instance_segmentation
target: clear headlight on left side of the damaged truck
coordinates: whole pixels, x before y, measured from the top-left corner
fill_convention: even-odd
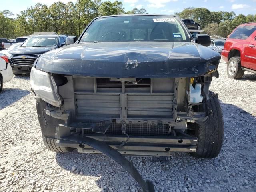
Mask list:
[[[57,85],[52,74],[37,70],[32,67],[30,73],[30,85],[36,96],[45,102],[59,107],[61,104],[60,95],[58,94]]]

